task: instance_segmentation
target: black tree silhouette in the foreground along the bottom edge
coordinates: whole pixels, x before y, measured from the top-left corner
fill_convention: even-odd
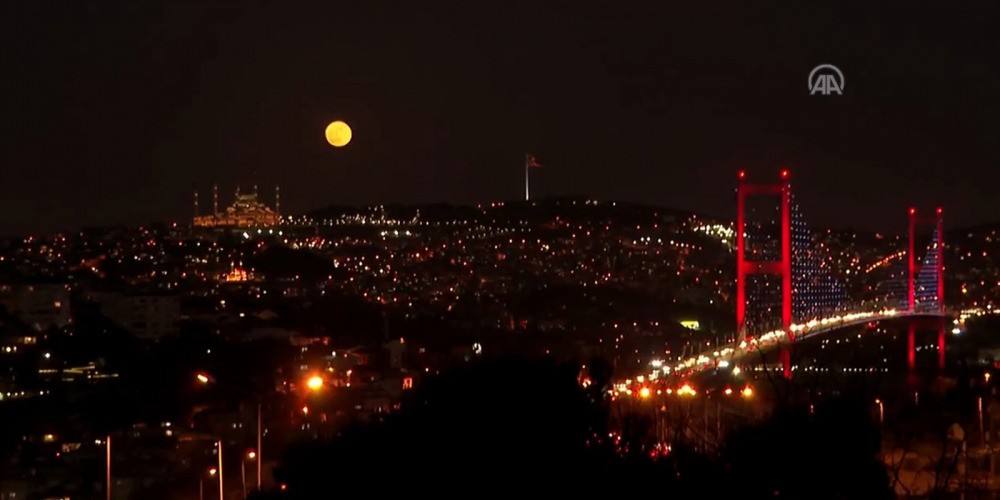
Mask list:
[[[606,380],[604,367],[591,366]],[[290,447],[275,473],[287,489],[272,495],[892,496],[878,430],[861,407],[783,410],[736,432],[713,456],[675,443],[667,457],[652,458],[641,420],[627,422],[632,431],[617,445],[607,438],[600,386],[581,388],[578,368],[501,359],[446,372],[381,422]]]

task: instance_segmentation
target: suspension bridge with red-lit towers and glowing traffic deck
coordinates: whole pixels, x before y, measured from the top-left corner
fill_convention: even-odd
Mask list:
[[[762,210],[754,202],[763,201]],[[768,202],[767,199],[770,199]],[[750,209],[748,209],[750,205]],[[763,220],[752,215],[765,214]],[[930,227],[930,242],[917,255],[917,231]],[[751,355],[779,351],[782,371],[791,377],[791,350],[806,338],[854,325],[903,318],[908,322],[908,363],[915,369],[918,328],[938,334],[938,366],[945,361],[944,226],[942,210],[922,216],[909,209],[904,279],[878,287],[882,293],[851,297],[834,277],[805,225],[792,193],[789,172],[773,183],[750,183],[738,174],[736,218],[736,335],[733,342],[678,361],[674,374],[712,369],[739,370]],[[905,281],[905,283],[903,283]]]

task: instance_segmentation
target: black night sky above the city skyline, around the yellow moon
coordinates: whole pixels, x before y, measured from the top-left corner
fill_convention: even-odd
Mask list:
[[[812,223],[1000,220],[1000,4],[758,3],[4,1],[0,234],[511,200],[527,152],[537,196],[732,216],[784,166]]]

